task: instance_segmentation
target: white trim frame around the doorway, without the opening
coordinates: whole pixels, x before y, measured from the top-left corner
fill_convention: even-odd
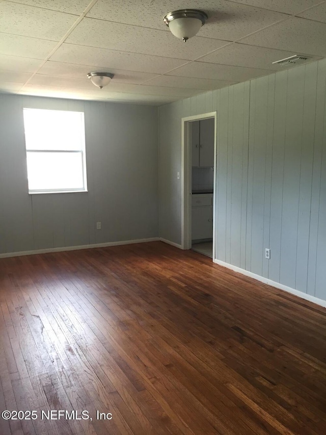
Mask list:
[[[215,259],[215,186],[216,186],[216,143],[217,112],[186,116],[181,119],[181,248],[192,247],[192,148],[191,121],[214,118],[214,184],[213,184],[213,260]]]

